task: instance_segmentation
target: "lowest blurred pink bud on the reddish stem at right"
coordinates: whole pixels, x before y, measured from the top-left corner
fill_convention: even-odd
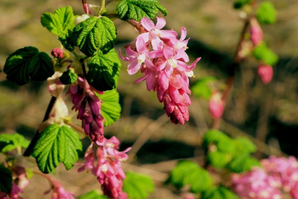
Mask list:
[[[221,100],[221,94],[214,92],[209,100],[209,110],[214,119],[221,118],[224,113],[224,103]]]

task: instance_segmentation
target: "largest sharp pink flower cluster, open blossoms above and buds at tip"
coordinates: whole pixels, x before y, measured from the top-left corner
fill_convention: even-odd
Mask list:
[[[166,24],[164,19],[156,19],[154,25],[152,20],[143,17],[143,31],[126,49],[127,57],[122,57],[120,51],[119,56],[128,62],[128,74],[135,74],[141,69],[144,76],[135,83],[146,80],[148,91],[157,91],[158,100],[164,103],[164,110],[171,121],[184,124],[189,120],[188,105],[191,104],[188,77],[193,76],[192,70],[200,58],[187,65],[189,58],[185,50],[189,39],[184,40],[186,29],[181,27],[178,39],[174,30],[161,30]]]

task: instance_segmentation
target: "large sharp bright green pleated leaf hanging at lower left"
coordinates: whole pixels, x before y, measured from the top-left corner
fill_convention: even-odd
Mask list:
[[[82,151],[79,135],[69,126],[49,125],[39,135],[32,151],[38,168],[43,173],[55,170],[60,162],[71,169],[78,160],[78,152]]]

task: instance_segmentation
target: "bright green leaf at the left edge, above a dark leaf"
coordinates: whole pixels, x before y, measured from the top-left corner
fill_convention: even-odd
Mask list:
[[[6,146],[3,148],[0,147],[1,152],[7,152],[7,151],[12,151],[13,149],[17,147],[22,147],[22,148],[27,148],[30,144],[30,141],[26,140],[24,136],[18,134],[18,133],[13,133],[13,134],[0,134],[0,146],[5,145],[5,143],[8,143]],[[1,150],[2,149],[2,150]]]

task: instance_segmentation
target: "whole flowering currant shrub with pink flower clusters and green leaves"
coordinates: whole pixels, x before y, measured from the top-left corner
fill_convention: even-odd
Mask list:
[[[129,75],[142,73],[134,83],[146,81],[147,90],[156,91],[165,114],[174,124],[189,121],[192,92],[209,100],[214,124],[202,137],[204,166],[180,161],[166,181],[178,189],[174,193],[187,199],[280,199],[284,194],[298,198],[298,163],[294,157],[270,156],[259,161],[254,158],[257,146],[251,140],[231,138],[218,130],[235,70],[243,59],[250,55],[257,59],[256,74],[264,84],[273,78],[272,66],[278,57],[263,41],[260,26],[276,21],[276,10],[270,2],[264,1],[257,8],[254,1],[235,2],[244,26],[226,85],[218,86],[218,79],[208,76],[197,79],[191,89],[190,78],[195,78],[193,71],[201,57],[198,55],[190,62],[186,27],[181,27],[179,34],[164,28],[167,10],[158,0],[114,0],[108,5],[101,0],[100,6],[82,0],[82,4],[84,14],[80,16],[70,6],[42,14],[42,26],[61,42],[60,48],[52,49],[51,56],[28,46],[6,59],[7,79],[18,85],[30,80],[47,81],[52,98],[31,142],[17,133],[0,134],[0,152],[6,155],[0,164],[0,199],[21,198],[34,174],[49,181],[50,188],[44,194],[51,194],[53,199],[75,198],[75,193],[47,175],[55,173],[60,163],[67,170],[75,166],[78,172],[97,179],[102,192],[90,191],[80,199],[149,197],[154,191],[153,180],[124,172],[121,167],[129,159],[127,152],[131,147],[120,151],[119,139],[104,134],[105,127],[113,125],[121,113],[116,90],[121,63],[126,64],[123,67]],[[159,12],[164,18],[157,17]],[[139,32],[134,41],[124,45],[125,55],[114,49],[115,19],[127,22]],[[70,107],[63,100],[68,97],[73,113],[69,113]],[[80,126],[72,122],[72,114]],[[86,151],[79,133],[91,140]],[[77,163],[80,154],[84,154],[84,162]]]

